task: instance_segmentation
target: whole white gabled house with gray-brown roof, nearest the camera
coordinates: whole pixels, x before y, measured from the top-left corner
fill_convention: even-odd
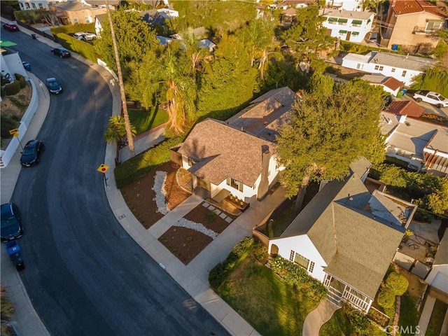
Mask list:
[[[269,253],[307,270],[328,288],[336,304],[367,312],[412,220],[416,206],[364,185],[370,162],[360,158],[343,181],[316,194]]]

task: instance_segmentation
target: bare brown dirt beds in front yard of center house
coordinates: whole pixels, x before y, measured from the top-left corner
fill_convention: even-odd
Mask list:
[[[161,165],[157,169],[148,172],[138,181],[134,181],[128,186],[121,189],[121,193],[125,199],[127,206],[130,208],[134,216],[139,220],[144,228],[151,228],[160,218],[163,217],[158,212],[155,203],[154,186],[155,172],[167,172],[167,180],[165,182],[165,190],[167,195],[168,208],[174,209],[176,206],[186,200],[190,193],[184,190],[190,190],[190,176],[183,169],[176,169],[170,163]],[[177,176],[176,176],[177,175]],[[181,186],[182,188],[181,188]],[[229,223],[219,216],[209,214],[209,210],[202,205],[198,205],[190,211],[184,218],[195,223],[201,223],[206,228],[220,234],[228,227]],[[229,215],[228,215],[229,216]],[[229,216],[235,219],[235,216]],[[159,241],[164,244],[169,251],[176,255],[184,264],[188,264],[196,255],[198,255],[213,239],[201,232],[189,228],[181,228],[173,226],[169,228],[160,238]]]

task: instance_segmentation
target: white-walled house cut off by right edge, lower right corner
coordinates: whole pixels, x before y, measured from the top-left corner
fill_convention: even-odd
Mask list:
[[[433,267],[425,279],[431,288],[448,297],[448,230],[445,230],[442,241],[435,253]]]

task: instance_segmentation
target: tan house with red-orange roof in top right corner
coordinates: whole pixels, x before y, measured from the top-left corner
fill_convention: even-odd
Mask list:
[[[409,52],[417,52],[423,45],[435,48],[439,41],[437,31],[446,27],[445,8],[422,0],[393,0],[390,3],[386,22],[381,25],[380,44],[387,48],[400,45]]]

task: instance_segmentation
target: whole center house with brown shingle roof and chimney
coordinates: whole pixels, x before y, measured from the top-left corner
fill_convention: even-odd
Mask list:
[[[232,194],[246,203],[262,199],[279,180],[282,167],[275,159],[275,137],[296,97],[281,87],[225,122],[198,123],[172,148],[172,161],[190,172],[195,193],[204,198],[221,202]]]

